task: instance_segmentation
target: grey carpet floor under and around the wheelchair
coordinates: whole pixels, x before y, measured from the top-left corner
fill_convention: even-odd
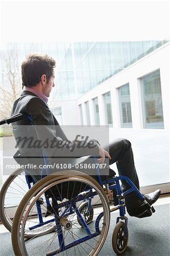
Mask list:
[[[147,218],[128,217],[128,247],[123,255],[169,256],[169,204],[158,205],[156,212]],[[104,246],[98,255],[116,255],[112,249],[112,233],[118,212],[111,213],[110,228]],[[0,255],[13,256],[11,234],[0,234]],[[35,255],[36,256],[36,255]]]

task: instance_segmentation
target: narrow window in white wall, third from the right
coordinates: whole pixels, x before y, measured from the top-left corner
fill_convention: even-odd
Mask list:
[[[113,126],[110,92],[103,94],[106,125]]]

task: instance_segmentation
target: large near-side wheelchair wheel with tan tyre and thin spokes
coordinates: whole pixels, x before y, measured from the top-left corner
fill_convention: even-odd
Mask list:
[[[49,197],[52,214],[48,216],[48,220],[42,216],[42,225],[39,225],[35,205],[36,200],[44,194]],[[87,226],[78,207],[84,200],[94,196],[99,196],[101,207],[94,208],[93,221]],[[80,218],[81,226],[78,224],[77,216]],[[55,225],[55,232],[48,233],[50,223]],[[78,171],[56,172],[38,181],[21,201],[12,228],[14,253],[18,256],[95,256],[106,240],[109,224],[110,210],[107,197],[96,180]],[[30,233],[34,234],[34,237],[26,240]]]

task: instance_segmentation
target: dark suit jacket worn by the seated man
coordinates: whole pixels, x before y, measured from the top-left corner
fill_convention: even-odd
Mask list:
[[[30,121],[28,119],[15,122],[13,123],[15,139],[18,138],[20,134],[22,134],[22,138],[29,137],[30,135],[32,137],[32,134],[36,134],[34,141],[37,139],[42,141],[42,149],[48,158],[48,162],[56,162],[56,159],[60,159],[62,162],[63,158],[63,162],[65,162],[66,159],[73,159],[86,155],[98,156],[98,146],[96,142],[94,142],[96,144],[94,144],[93,148],[88,142],[84,144],[83,147],[81,147],[81,145],[84,142],[79,144],[76,142],[68,143],[66,135],[51,110],[49,110],[48,105],[34,93],[28,91],[22,92],[21,97],[14,102],[11,114],[15,115],[18,113],[26,113],[31,116],[32,122],[34,123],[34,130],[32,130],[32,126],[30,126]],[[54,141],[54,139],[55,143],[53,143],[53,145],[59,143],[59,146],[51,148],[50,142]],[[34,151],[38,151],[38,148],[29,148],[29,142],[30,141],[25,143],[24,148],[22,147],[22,143],[20,143],[20,145],[18,144],[21,154],[25,154],[29,151],[32,155],[33,149]],[[35,144],[37,145],[37,143]],[[31,149],[31,151],[29,149]]]

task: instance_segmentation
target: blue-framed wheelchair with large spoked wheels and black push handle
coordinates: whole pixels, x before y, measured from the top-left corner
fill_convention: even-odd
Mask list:
[[[0,125],[21,118],[23,114],[18,114],[1,121]],[[43,160],[47,163],[45,156]],[[24,172],[16,171],[15,178],[20,171]],[[45,171],[48,174],[48,170]],[[125,196],[137,193],[146,212],[155,212],[128,177],[106,176],[102,181],[98,167],[97,180],[77,170],[59,170],[50,175],[44,175],[42,170],[42,179],[36,183],[28,177],[27,171],[25,174],[28,191],[14,219],[6,218],[10,227],[12,225],[15,255],[97,255],[109,231],[110,213],[115,210],[119,210],[119,217],[113,230],[112,246],[115,253],[122,254],[128,243]],[[122,192],[121,180],[126,180],[130,189]],[[7,187],[6,184],[6,189],[1,190],[1,205],[5,203],[2,198],[5,199]],[[113,204],[114,189],[117,205]],[[6,216],[2,206],[1,216]]]

